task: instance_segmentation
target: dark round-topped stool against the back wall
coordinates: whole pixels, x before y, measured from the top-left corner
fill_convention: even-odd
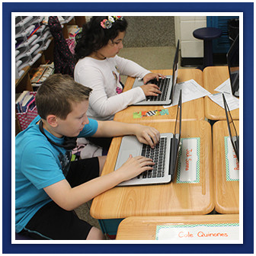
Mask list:
[[[203,68],[213,66],[213,39],[220,37],[222,30],[216,27],[201,27],[194,30],[193,36],[203,40]]]

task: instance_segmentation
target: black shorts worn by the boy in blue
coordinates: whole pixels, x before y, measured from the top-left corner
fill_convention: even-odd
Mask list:
[[[66,179],[76,187],[98,176],[96,157],[72,162]],[[37,211],[20,234],[37,240],[85,240],[91,228],[88,222],[78,218],[74,210],[64,210],[52,201]]]

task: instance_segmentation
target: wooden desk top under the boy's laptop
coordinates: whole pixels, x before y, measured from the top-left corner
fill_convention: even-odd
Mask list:
[[[174,122],[147,123],[160,133],[173,133]],[[133,187],[114,187],[95,197],[91,205],[94,219],[123,219],[128,216],[166,216],[210,213],[213,201],[213,160],[211,126],[206,121],[182,122],[183,138],[200,137],[200,181]],[[114,170],[121,137],[112,140],[103,175]]]

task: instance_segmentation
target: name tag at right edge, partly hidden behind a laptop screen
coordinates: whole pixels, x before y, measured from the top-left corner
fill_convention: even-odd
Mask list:
[[[226,158],[226,181],[239,181],[239,162],[229,136],[224,137]]]

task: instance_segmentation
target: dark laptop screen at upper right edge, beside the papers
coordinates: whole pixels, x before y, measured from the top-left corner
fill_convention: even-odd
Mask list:
[[[232,94],[239,97],[239,34],[227,53],[227,63]]]

